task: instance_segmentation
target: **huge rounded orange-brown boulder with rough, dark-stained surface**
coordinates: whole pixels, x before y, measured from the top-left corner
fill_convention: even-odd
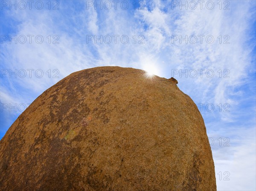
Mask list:
[[[174,81],[139,69],[72,73],[0,144],[1,191],[216,191],[196,104]]]

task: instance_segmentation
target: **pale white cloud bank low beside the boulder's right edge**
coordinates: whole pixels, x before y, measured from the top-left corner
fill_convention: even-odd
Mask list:
[[[209,140],[212,144],[218,190],[256,189],[255,133],[255,127],[245,126],[232,129],[224,127],[223,130],[208,133],[211,137]],[[214,140],[214,143],[211,140]]]

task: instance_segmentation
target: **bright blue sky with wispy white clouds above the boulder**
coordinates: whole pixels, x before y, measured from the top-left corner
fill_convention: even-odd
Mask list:
[[[0,138],[49,87],[99,66],[174,77],[204,118],[218,191],[256,190],[256,1],[0,0]]]

